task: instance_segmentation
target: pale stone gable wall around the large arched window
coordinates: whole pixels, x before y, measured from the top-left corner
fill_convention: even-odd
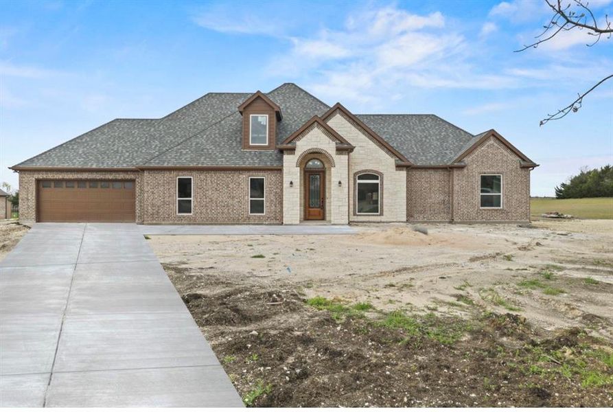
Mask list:
[[[343,115],[336,113],[329,117],[327,124],[343,136],[350,144],[356,146],[349,153],[349,211],[351,222],[404,222],[406,221],[406,170],[396,168],[395,157],[375,144]],[[377,216],[360,216],[355,213],[356,192],[353,176],[360,170],[377,170],[383,175],[385,192],[382,194],[384,204],[382,214]],[[336,181],[336,180],[334,180]]]

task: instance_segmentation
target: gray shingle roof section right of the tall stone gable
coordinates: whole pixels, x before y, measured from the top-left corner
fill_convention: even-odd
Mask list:
[[[448,164],[473,135],[436,115],[356,115],[417,165]]]

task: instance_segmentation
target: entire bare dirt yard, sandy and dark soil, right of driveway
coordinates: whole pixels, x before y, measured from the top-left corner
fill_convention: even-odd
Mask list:
[[[152,236],[245,403],[613,405],[613,220]]]

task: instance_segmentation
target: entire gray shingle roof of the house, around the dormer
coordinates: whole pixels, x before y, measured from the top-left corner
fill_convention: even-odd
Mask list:
[[[14,167],[133,168],[140,165],[282,164],[278,150],[242,150],[238,106],[252,93],[208,93],[161,119],[115,119]],[[277,144],[327,104],[292,83],[266,93],[281,107]],[[411,162],[446,164],[475,136],[435,115],[358,115]],[[467,146],[468,145],[468,146]]]

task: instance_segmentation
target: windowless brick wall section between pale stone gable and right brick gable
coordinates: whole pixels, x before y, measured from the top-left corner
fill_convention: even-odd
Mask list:
[[[450,179],[447,169],[408,169],[406,220],[451,220]]]

